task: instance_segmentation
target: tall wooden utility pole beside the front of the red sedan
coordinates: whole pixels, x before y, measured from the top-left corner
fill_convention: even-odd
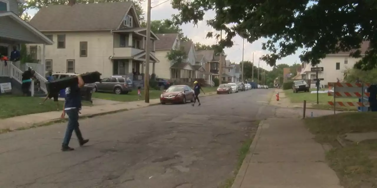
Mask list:
[[[147,41],[145,49],[145,74],[144,74],[144,101],[149,103],[149,41],[150,41],[150,9],[151,9],[151,0],[147,0]]]

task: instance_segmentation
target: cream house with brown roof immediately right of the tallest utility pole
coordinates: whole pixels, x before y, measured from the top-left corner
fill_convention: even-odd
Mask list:
[[[155,56],[160,61],[155,68],[156,77],[170,79],[172,77],[170,67],[172,67],[173,62],[169,61],[166,55],[171,50],[180,49],[180,41],[178,33],[166,33],[166,34],[156,34],[160,39],[155,42]]]

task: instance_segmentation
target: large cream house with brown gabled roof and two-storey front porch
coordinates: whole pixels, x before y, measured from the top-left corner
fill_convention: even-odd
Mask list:
[[[54,44],[46,45],[46,70],[67,73],[99,71],[103,77],[133,72],[143,75],[146,28],[141,27],[133,3],[72,2],[43,7],[30,21],[54,41]],[[159,62],[155,56],[155,41],[159,38],[153,32],[150,36],[152,74]],[[29,44],[28,50],[37,52],[36,56],[40,58],[40,45]]]

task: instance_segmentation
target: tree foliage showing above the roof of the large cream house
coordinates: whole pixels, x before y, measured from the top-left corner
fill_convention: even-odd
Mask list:
[[[143,8],[141,6],[141,3],[143,3],[145,0],[76,0],[76,4],[87,4],[87,3],[106,3],[106,2],[125,2],[125,1],[132,1],[134,6],[135,6],[135,9],[136,9],[136,13],[139,15],[139,19],[141,21],[144,20],[144,17],[143,17]],[[24,4],[21,4],[19,6],[19,12],[21,15],[21,17],[25,17],[25,13],[27,10],[29,9],[40,9],[44,6],[49,6],[49,5],[67,5],[69,2],[69,0],[29,0],[29,1],[26,1],[26,3]],[[109,14],[111,14],[111,12],[109,12]]]

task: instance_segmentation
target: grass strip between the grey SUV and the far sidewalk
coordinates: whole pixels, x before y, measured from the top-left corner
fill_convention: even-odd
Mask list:
[[[149,90],[149,99],[158,99],[161,93],[162,91],[151,89]],[[119,101],[119,102],[130,102],[130,101],[135,101],[139,99],[137,89],[131,92],[128,92],[127,94],[121,94],[121,95],[117,95],[113,93],[95,92],[92,94],[92,97],[97,98],[97,99],[114,100],[114,101]],[[140,100],[144,100],[144,90],[141,90]]]

